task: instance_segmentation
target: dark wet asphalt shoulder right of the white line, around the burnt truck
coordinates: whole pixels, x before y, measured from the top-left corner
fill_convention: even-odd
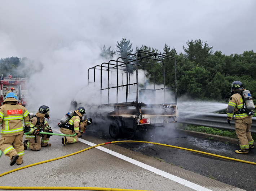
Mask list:
[[[83,134],[83,137],[86,137],[86,135],[101,138],[102,142],[115,141],[109,136],[108,129],[105,125],[89,126],[87,131]],[[239,148],[238,145],[225,144],[215,140],[178,134],[172,128],[159,127],[156,130],[148,130],[144,132],[137,131],[133,140],[180,146],[226,157],[256,162],[256,149],[250,150],[249,154],[236,154],[234,151]],[[254,178],[256,166],[252,164],[221,159],[209,155],[154,144],[122,143],[119,144],[119,146],[150,157],[157,157],[164,160],[162,162],[171,163],[180,168],[184,168],[206,177],[211,177],[220,182],[233,185],[247,191],[256,191],[256,182]]]

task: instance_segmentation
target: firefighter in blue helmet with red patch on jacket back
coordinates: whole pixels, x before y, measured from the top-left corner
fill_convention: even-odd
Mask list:
[[[2,124],[0,150],[10,157],[10,166],[15,163],[23,163],[24,146],[22,144],[24,119],[25,127],[30,126],[29,112],[19,104],[15,93],[10,92],[6,95],[3,106],[0,108],[0,124]],[[33,129],[32,134],[39,132]]]

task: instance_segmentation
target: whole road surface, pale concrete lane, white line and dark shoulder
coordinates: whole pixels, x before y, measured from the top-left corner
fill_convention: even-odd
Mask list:
[[[50,121],[54,132],[59,131],[56,126],[57,123],[58,120]],[[110,138],[107,128],[89,126],[87,129],[76,144],[64,146],[61,143],[61,136],[52,136],[50,138],[52,146],[42,148],[39,152],[26,150],[25,163],[21,166],[9,166],[9,158],[4,155],[1,156],[0,173],[74,153],[88,148],[93,143],[100,144],[115,141]],[[177,145],[195,150],[200,150],[201,148],[205,149],[203,151],[206,152],[208,146],[211,147],[211,152],[219,152],[217,154],[220,154],[223,150],[228,153],[229,146],[232,146],[224,144],[223,146],[226,146],[224,149],[221,143],[216,141],[195,139],[190,136],[178,135],[174,132],[167,134],[167,132],[171,132],[171,130],[164,129],[160,131],[158,129],[157,132],[148,131],[144,133],[144,136],[138,134],[135,139]],[[255,166],[250,164],[232,162],[180,149],[145,143],[108,144],[101,148],[103,150],[99,150],[100,148],[90,149],[71,157],[7,174],[0,177],[1,186],[86,186],[155,191],[204,191],[204,189],[207,190],[206,188],[208,188],[213,191],[238,191],[240,190],[239,188],[242,188],[239,185],[240,181],[238,181],[240,178],[244,183],[244,190],[251,191],[255,189],[255,184],[253,185],[250,181],[247,183],[245,177],[241,178],[242,175],[246,174],[246,176],[249,176],[247,179],[252,182]],[[248,157],[253,156],[248,155]],[[159,159],[162,159],[162,162]],[[238,170],[236,169],[237,167],[241,167],[243,170]],[[190,186],[184,186],[184,183],[173,181],[170,177],[187,181],[186,183]],[[233,181],[230,181],[231,178],[233,178]],[[238,183],[237,187],[239,188],[234,187],[235,181]],[[197,185],[199,188],[196,188]]]

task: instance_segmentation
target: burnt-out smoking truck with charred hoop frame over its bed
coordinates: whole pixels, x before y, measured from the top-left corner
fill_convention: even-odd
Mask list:
[[[163,59],[175,61],[175,85],[173,87],[165,87],[165,66]],[[163,88],[155,89],[155,62],[160,62],[163,71]],[[147,89],[146,86],[146,64],[153,67],[153,84],[150,86],[153,89]],[[144,70],[144,85],[139,84],[138,67]],[[130,71],[136,71],[136,82],[131,83]],[[89,81],[89,71],[93,70],[93,81]],[[101,65],[96,65],[88,69],[88,85],[94,83],[99,77],[96,75],[96,70],[100,70],[100,104],[97,107],[91,107],[90,113],[94,121],[97,122],[100,118],[109,120],[109,134],[112,138],[118,139],[127,134],[135,134],[136,130],[147,128],[157,128],[164,126],[165,123],[177,122],[177,83],[176,83],[176,59],[171,56],[160,53],[138,50],[136,54],[127,54],[126,57],[119,57],[116,60],[103,62]],[[103,72],[107,72],[108,87],[102,88]],[[110,81],[113,77],[112,73],[116,73],[116,84]],[[122,84],[120,83],[120,73],[122,73]],[[125,77],[125,79],[123,79]],[[136,92],[131,92],[131,87],[136,85]],[[142,88],[141,88],[142,87]],[[121,91],[121,89],[125,89]],[[110,90],[116,89],[116,101],[111,103]],[[175,102],[166,103],[167,89],[175,89]],[[103,91],[108,92],[107,103],[102,103]],[[155,92],[163,91],[163,102],[155,103]],[[119,94],[125,92],[125,102],[119,101]],[[136,101],[130,101],[129,96],[136,93]],[[103,94],[106,99],[106,95]],[[139,97],[140,96],[140,97]],[[135,96],[134,96],[135,97]],[[144,103],[145,102],[145,103]],[[150,103],[148,103],[150,102]]]

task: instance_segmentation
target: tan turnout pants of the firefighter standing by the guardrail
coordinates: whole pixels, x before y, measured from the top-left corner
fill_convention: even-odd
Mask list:
[[[251,135],[252,117],[235,120],[235,132],[239,138],[239,145],[242,150],[249,149],[249,145],[253,145]]]

